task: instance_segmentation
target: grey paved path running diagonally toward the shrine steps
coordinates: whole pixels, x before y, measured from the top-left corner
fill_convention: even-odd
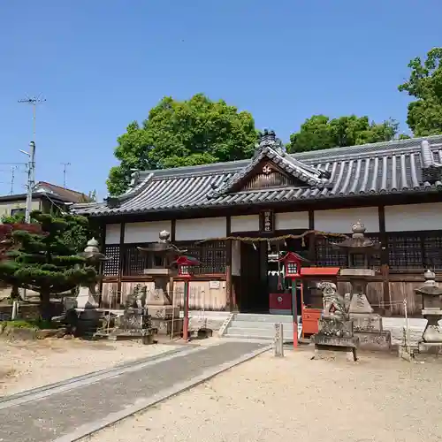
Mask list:
[[[141,370],[125,372],[117,377],[98,380],[67,392],[59,392],[40,400],[29,400],[19,406],[0,409],[0,440],[2,442],[50,442],[77,440],[87,434],[72,436],[82,428],[96,428],[97,422],[112,422],[130,414],[131,408],[149,399],[158,398],[195,377],[202,377],[245,354],[268,346],[256,342],[226,341],[202,347],[192,354],[177,354],[173,358],[156,360]],[[213,376],[213,375],[212,375]],[[201,379],[200,382],[204,380]],[[191,386],[191,385],[190,385]],[[179,390],[178,390],[179,391]],[[155,403],[151,401],[151,403]],[[133,409],[133,413],[142,407]],[[114,421],[117,421],[115,418]],[[95,425],[95,427],[94,427]],[[102,425],[102,427],[105,425]]]

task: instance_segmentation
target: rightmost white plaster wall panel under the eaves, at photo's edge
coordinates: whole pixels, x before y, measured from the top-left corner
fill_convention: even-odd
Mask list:
[[[442,202],[385,206],[385,231],[442,230]]]

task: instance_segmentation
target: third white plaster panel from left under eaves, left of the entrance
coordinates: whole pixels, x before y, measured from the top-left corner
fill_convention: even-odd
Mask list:
[[[227,222],[225,217],[177,219],[175,240],[208,240],[225,237]]]

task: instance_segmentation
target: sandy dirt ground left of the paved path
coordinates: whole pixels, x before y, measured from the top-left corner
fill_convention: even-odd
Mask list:
[[[0,397],[52,384],[122,362],[172,350],[174,346],[82,339],[0,340]]]

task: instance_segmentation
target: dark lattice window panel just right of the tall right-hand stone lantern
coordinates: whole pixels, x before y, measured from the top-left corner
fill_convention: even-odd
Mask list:
[[[423,240],[418,233],[388,237],[388,265],[392,271],[423,271]]]

